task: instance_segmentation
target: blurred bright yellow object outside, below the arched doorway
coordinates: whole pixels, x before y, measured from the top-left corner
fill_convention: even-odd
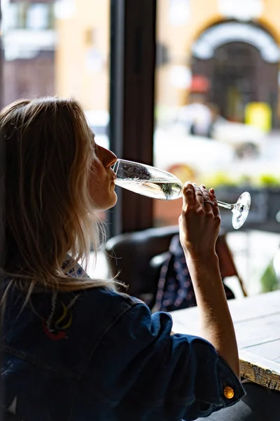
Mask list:
[[[267,102],[249,102],[245,107],[245,123],[265,132],[272,128],[272,109]]]

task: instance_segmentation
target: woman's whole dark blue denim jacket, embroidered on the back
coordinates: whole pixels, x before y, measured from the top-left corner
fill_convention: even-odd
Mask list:
[[[1,342],[1,405],[19,420],[195,420],[244,396],[209,342],[172,335],[169,314],[128,295],[97,287],[24,302],[10,289]]]

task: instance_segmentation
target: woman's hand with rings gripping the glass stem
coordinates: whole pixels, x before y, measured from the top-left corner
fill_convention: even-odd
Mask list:
[[[186,258],[201,260],[213,256],[221,225],[214,189],[187,182],[179,218],[180,241]]]

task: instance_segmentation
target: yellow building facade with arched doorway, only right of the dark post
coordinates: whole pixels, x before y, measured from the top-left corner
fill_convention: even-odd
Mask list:
[[[158,39],[166,58],[158,69],[158,104],[185,105],[190,93],[203,93],[223,116],[244,121],[248,103],[265,102],[277,125],[279,0],[158,3]]]

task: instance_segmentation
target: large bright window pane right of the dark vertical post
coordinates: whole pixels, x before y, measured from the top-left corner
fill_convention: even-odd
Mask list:
[[[246,7],[240,12],[235,3],[158,2],[154,164],[183,182],[235,187],[238,197],[273,180],[280,187],[273,140],[280,126],[280,32],[263,1],[248,1],[255,20],[246,22]],[[155,201],[154,225],[177,224],[180,207],[181,201]],[[253,201],[248,221],[261,218]],[[227,227],[230,215],[223,222]]]

